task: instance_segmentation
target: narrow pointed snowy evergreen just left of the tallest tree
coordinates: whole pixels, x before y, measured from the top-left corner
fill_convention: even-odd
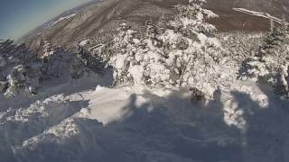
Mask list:
[[[136,47],[133,62],[128,71],[137,84],[167,85],[170,70],[165,65],[163,41],[152,20],[145,22],[144,38]]]

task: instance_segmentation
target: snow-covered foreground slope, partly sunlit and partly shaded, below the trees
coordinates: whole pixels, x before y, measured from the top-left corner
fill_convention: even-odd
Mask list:
[[[288,161],[288,103],[251,81],[194,103],[188,89],[109,88],[91,75],[3,103],[5,161]],[[53,87],[54,86],[54,87]],[[43,90],[44,91],[44,90]]]

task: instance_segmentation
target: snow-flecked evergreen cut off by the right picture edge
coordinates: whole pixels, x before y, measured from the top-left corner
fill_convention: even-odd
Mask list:
[[[277,94],[287,95],[289,85],[289,34],[287,24],[274,25],[271,29],[256,52],[256,56],[245,61],[244,67],[247,70],[242,76],[263,79],[275,87]]]

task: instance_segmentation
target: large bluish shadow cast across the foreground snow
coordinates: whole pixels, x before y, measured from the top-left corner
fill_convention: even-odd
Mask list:
[[[130,96],[120,121],[104,126],[77,118],[78,136],[44,140],[16,155],[32,162],[287,162],[289,118],[282,105],[289,104],[260,88],[269,97],[267,108],[248,94],[231,92],[246,130],[228,125],[218,101],[193,103],[182,91],[166,97],[145,92]],[[139,105],[140,97],[147,101]]]

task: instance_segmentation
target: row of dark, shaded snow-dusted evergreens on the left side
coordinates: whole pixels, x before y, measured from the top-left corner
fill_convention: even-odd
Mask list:
[[[24,44],[13,40],[0,41],[0,94],[37,94],[42,79],[47,77],[79,78],[87,68],[76,55],[64,49],[52,49],[46,44],[46,54],[37,58]]]

